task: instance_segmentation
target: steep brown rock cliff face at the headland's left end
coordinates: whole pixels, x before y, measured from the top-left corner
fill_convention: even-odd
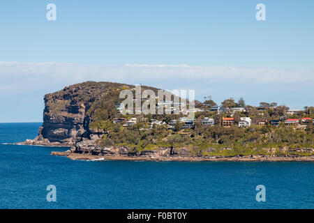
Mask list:
[[[120,86],[126,85],[84,82],[45,95],[43,125],[38,130],[38,137],[24,144],[74,146],[85,138],[99,138],[103,132],[89,128],[93,118],[87,112],[95,102],[105,98],[109,89]]]

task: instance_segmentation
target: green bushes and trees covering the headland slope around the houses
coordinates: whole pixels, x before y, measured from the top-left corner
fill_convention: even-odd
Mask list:
[[[156,148],[185,148],[191,155],[312,155],[308,151],[296,150],[299,148],[314,148],[314,130],[312,121],[304,129],[295,128],[295,126],[285,126],[283,123],[279,127],[269,125],[272,118],[294,117],[286,115],[288,107],[284,105],[277,106],[275,102],[269,104],[261,102],[261,105],[267,106],[260,112],[257,107],[246,105],[243,98],[234,102],[233,98],[224,100],[221,104],[225,108],[246,107],[244,112],[204,112],[195,114],[195,128],[183,130],[184,123],[178,120],[181,115],[122,115],[117,110],[117,104],[122,99],[119,93],[124,89],[133,89],[135,86],[126,84],[117,84],[110,82],[85,82],[76,84],[58,91],[54,94],[45,96],[45,100],[54,98],[63,98],[59,102],[49,103],[50,115],[57,112],[73,109],[73,105],[84,103],[87,116],[87,124],[92,130],[101,130],[105,132],[103,138],[98,140],[100,146],[125,146],[130,152],[145,150],[154,150]],[[157,89],[142,86],[143,89]],[[206,100],[208,99],[208,100]],[[205,97],[205,102],[195,103],[196,107],[207,108],[216,105],[211,97]],[[311,116],[313,118],[313,107],[306,107],[307,114],[299,114],[298,118]],[[312,112],[312,113],[311,113]],[[242,116],[249,116],[253,123],[260,118],[267,118],[266,125],[251,125],[248,128],[238,128],[233,125],[230,128],[220,126],[223,117],[234,117],[237,123]],[[135,125],[124,127],[124,123],[112,123],[113,118],[137,118]],[[214,118],[216,125],[202,125],[200,120],[204,117]],[[151,119],[163,121],[165,125],[153,125]],[[169,127],[172,120],[177,123]]]

